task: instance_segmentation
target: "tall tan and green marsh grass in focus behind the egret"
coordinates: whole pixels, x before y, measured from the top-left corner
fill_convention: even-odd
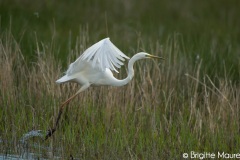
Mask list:
[[[87,32],[78,37],[68,64],[90,45],[88,39]],[[79,88],[55,84],[66,68],[54,57],[54,39],[46,45],[36,38],[35,43],[36,61],[29,64],[10,31],[0,37],[1,153],[22,155],[21,137],[52,127],[59,105]],[[47,141],[30,139],[39,147],[29,152],[62,159],[180,159],[190,151],[239,152],[239,85],[227,73],[205,74],[205,57],[192,60],[180,34],[169,35],[164,44],[139,39],[136,50],[144,47],[166,60],[137,62],[126,86],[81,93],[65,108],[55,135]],[[126,68],[116,76],[124,78]]]

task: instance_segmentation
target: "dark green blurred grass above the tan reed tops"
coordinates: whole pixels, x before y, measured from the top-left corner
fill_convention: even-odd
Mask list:
[[[40,42],[54,39],[63,60],[83,30],[88,31],[89,45],[109,36],[128,55],[136,51],[139,38],[143,44],[164,44],[169,35],[179,33],[193,61],[200,56],[204,65],[219,71],[224,61],[236,80],[239,7],[238,0],[1,0],[0,22],[1,33],[11,26],[24,55],[34,55],[36,34]]]

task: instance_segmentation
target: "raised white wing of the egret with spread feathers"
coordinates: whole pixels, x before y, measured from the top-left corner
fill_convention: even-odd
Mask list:
[[[115,67],[120,68],[121,65],[123,65],[124,58],[129,59],[109,38],[105,38],[85,50],[83,54],[69,66],[67,74],[76,73],[78,66],[82,66],[82,62],[90,63],[92,67],[97,67],[102,71],[109,68],[118,73]]]

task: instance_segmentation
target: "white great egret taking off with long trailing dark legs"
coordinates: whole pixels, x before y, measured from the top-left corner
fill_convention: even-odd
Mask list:
[[[119,80],[113,76],[111,70],[118,73],[115,67],[120,68],[125,59],[129,59],[122,53],[109,38],[105,38],[89,47],[73,63],[70,64],[66,74],[58,79],[57,83],[76,82],[81,88],[75,95],[67,99],[60,107],[59,115],[54,129],[50,130],[46,139],[56,130],[64,105],[76,97],[80,92],[86,90],[91,85],[123,86],[130,82],[134,76],[133,65],[137,60],[144,58],[158,58],[145,52],[135,54],[128,62],[128,76]]]

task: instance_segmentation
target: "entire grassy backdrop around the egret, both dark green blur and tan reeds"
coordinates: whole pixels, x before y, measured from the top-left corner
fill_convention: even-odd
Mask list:
[[[0,0],[2,153],[17,152],[30,130],[51,127],[59,104],[78,89],[55,80],[107,36],[129,56],[145,50],[166,60],[138,62],[127,86],[79,95],[40,145],[83,159],[238,152],[239,8],[238,0]]]

